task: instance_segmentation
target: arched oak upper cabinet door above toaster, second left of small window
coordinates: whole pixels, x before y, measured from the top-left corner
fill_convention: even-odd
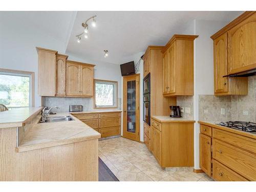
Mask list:
[[[80,96],[79,65],[67,63],[67,96]]]

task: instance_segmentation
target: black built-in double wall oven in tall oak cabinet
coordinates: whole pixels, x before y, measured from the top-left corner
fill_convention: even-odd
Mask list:
[[[150,125],[150,73],[143,79],[143,121]]]

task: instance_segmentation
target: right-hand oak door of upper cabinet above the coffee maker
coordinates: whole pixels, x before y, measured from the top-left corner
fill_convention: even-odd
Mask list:
[[[169,93],[176,92],[176,46],[175,42],[168,50],[168,63],[169,63]]]

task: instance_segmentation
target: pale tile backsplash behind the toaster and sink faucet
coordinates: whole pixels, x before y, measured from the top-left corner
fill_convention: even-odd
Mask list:
[[[42,97],[42,106],[58,106],[59,110],[53,109],[53,112],[68,112],[69,105],[81,104],[83,111],[93,110],[93,98],[74,98],[74,97]],[[118,98],[118,109],[121,109],[121,98]]]

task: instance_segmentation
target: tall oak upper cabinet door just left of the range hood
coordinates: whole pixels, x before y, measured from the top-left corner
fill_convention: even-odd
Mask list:
[[[214,83],[215,93],[228,91],[227,75],[227,34],[214,40]]]

